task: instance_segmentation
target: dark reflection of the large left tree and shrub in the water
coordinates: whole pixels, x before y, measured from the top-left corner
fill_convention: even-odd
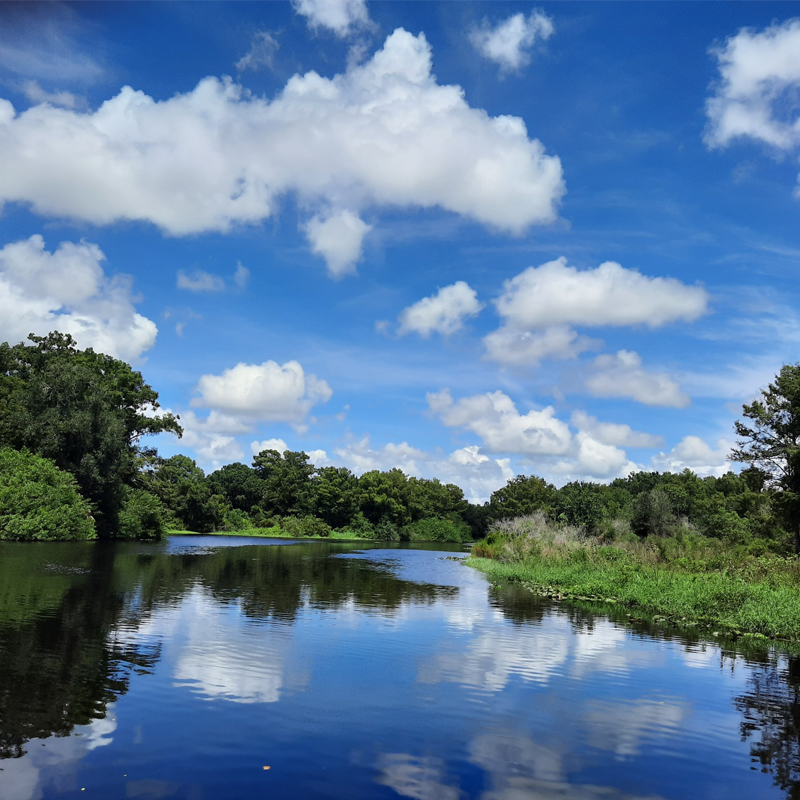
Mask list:
[[[78,547],[82,564],[67,567],[67,581],[37,558],[41,551],[33,553],[38,573],[8,569],[17,559],[0,569],[0,612],[7,612],[0,616],[0,758],[23,755],[30,739],[67,736],[102,718],[127,690],[131,670],[146,671],[158,658],[114,642],[122,600],[113,587],[113,551]],[[55,602],[49,580],[59,587]]]

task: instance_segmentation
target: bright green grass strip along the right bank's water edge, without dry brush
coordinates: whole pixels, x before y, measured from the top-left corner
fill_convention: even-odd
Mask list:
[[[610,549],[610,548],[604,548]],[[466,563],[493,579],[521,583],[537,594],[563,599],[613,601],[682,625],[702,625],[725,636],[750,634],[800,641],[800,585],[796,562],[773,559],[757,579],[747,570],[692,572],[648,564],[624,555],[604,561],[576,556],[537,556],[520,561],[471,557]]]

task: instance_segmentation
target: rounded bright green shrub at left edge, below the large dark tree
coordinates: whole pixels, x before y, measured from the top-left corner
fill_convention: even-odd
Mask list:
[[[89,503],[50,459],[0,449],[0,539],[94,539]]]

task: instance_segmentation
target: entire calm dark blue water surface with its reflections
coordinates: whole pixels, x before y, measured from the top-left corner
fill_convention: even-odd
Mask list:
[[[460,555],[0,545],[0,798],[800,798],[800,661]]]

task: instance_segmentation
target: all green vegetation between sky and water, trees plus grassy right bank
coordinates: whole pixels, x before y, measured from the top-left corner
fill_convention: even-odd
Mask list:
[[[69,335],[31,335],[0,344],[0,540],[481,539],[469,564],[539,594],[800,641],[800,364],[742,417],[738,473],[642,471],[558,488],[517,475],[482,504],[436,478],[356,475],[302,451],[265,449],[207,475],[143,444],[183,429],[141,373]]]

